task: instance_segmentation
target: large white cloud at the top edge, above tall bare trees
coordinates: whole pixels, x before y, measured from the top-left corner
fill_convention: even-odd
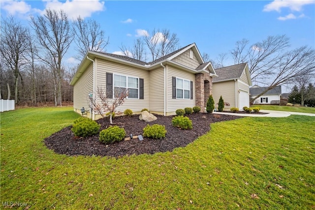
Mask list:
[[[47,0],[46,9],[55,9],[63,11],[69,19],[76,19],[79,15],[81,18],[91,17],[92,13],[105,10],[104,1],[99,0]],[[42,11],[45,13],[45,11]]]

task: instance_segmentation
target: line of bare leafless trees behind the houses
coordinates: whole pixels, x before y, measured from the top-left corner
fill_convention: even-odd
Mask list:
[[[95,20],[79,16],[69,21],[63,10],[47,9],[44,16],[31,16],[30,26],[13,16],[1,18],[0,97],[31,105],[72,102],[69,84],[77,67],[64,67],[65,53],[75,44],[76,58],[82,60],[89,50],[105,51],[109,37]],[[124,55],[141,61],[157,60],[178,48],[179,38],[167,29],[147,31],[132,46],[120,47]],[[290,49],[286,35],[268,36],[254,44],[242,39],[216,59],[207,53],[202,57],[217,69],[225,66],[229,55],[234,64],[249,64],[252,81],[269,87],[265,92],[278,85],[301,86],[315,78],[315,50],[307,46]]]

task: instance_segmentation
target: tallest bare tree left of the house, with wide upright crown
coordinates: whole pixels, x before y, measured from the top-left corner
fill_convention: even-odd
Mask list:
[[[55,89],[57,89],[55,105],[57,106],[58,103],[62,105],[62,60],[73,40],[70,22],[63,10],[58,12],[51,9],[46,9],[44,16],[37,16],[37,18],[31,16],[31,21],[37,40],[46,52],[46,56],[39,56],[39,58],[53,69]]]

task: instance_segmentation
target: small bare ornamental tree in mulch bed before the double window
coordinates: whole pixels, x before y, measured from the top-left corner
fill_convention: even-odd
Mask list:
[[[126,98],[129,95],[127,88],[115,88],[114,96],[111,91],[107,91],[106,88],[97,87],[94,93],[95,97],[89,97],[89,101],[92,104],[93,109],[102,117],[109,112],[109,122],[113,124],[112,116],[116,108],[125,103]]]

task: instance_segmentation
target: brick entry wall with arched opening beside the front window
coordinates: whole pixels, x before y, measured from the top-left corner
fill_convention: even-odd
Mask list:
[[[205,107],[209,96],[212,94],[212,77],[209,74],[195,74],[196,106],[205,112]]]

